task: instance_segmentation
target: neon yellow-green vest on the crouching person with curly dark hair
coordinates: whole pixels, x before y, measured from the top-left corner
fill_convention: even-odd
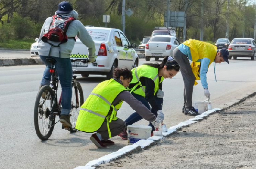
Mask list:
[[[76,129],[87,133],[97,131],[107,119],[108,134],[111,138],[109,123],[117,120],[117,110],[123,101],[116,106],[112,105],[117,95],[126,88],[114,79],[99,83],[80,107],[76,121]]]

